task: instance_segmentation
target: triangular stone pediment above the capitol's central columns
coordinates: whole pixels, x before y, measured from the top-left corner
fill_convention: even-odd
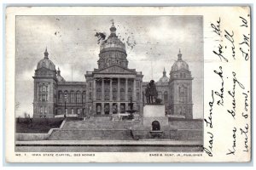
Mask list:
[[[95,71],[96,73],[102,73],[102,74],[105,74],[105,73],[108,73],[108,74],[111,74],[111,73],[117,73],[117,74],[136,74],[136,71],[131,71],[130,69],[126,69],[126,68],[123,68],[123,67],[120,67],[119,65],[112,65],[112,66],[109,66],[107,68],[104,68],[102,70],[98,70],[98,71]]]

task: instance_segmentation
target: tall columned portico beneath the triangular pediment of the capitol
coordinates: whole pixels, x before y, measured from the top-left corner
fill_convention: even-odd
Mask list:
[[[129,109],[131,97],[135,106],[139,102],[137,101],[137,92],[142,95],[142,88],[138,87],[137,89],[136,75],[109,74],[107,77],[106,75],[95,74],[94,76],[92,94],[95,114],[125,113]],[[121,89],[124,89],[123,92]]]

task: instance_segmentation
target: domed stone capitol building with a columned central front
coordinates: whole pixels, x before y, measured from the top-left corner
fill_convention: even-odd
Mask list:
[[[131,102],[137,115],[143,116],[148,82],[143,82],[142,71],[129,68],[125,43],[119,40],[116,31],[113,24],[109,37],[102,41],[97,68],[81,72],[84,82],[67,82],[61,77],[61,70],[55,68],[45,49],[33,76],[35,118],[112,116],[125,113]],[[170,63],[170,73],[166,74],[163,68],[163,76],[154,80],[158,99],[165,105],[166,116],[192,119],[193,77],[181,51],[173,58],[177,60],[173,65]]]

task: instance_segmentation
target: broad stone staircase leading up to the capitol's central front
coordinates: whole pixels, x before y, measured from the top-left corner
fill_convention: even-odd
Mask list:
[[[49,140],[130,140],[130,128],[140,122],[113,122],[109,117],[96,117],[83,121],[67,121],[61,129],[55,129]]]

